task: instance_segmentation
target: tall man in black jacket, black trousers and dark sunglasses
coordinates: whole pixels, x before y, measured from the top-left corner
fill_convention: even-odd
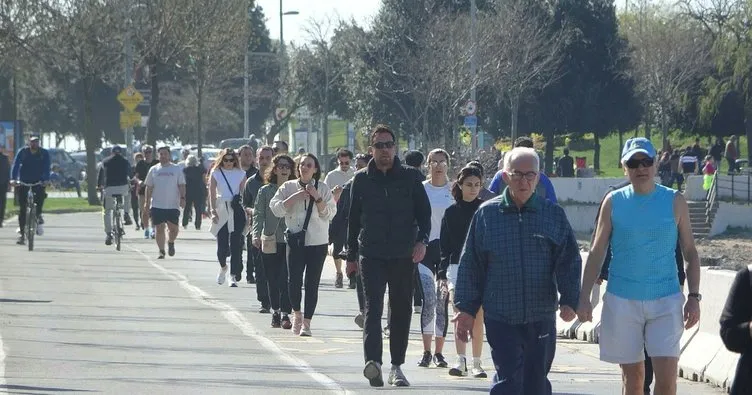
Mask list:
[[[394,133],[379,125],[370,140],[373,159],[353,178],[347,239],[347,261],[349,265],[359,261],[366,299],[363,375],[371,386],[384,385],[381,316],[389,284],[389,384],[406,387],[410,383],[400,365],[410,335],[415,264],[426,254],[431,231],[431,206],[417,170],[402,166],[396,158]]]

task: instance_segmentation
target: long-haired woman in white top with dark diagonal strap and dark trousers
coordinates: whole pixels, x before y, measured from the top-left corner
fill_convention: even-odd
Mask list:
[[[217,259],[221,266],[217,283],[221,285],[225,282],[229,256],[231,287],[238,286],[243,274],[243,229],[246,216],[239,203],[245,178],[238,155],[230,148],[222,150],[209,176],[209,207],[212,216],[210,231],[217,238]],[[236,204],[233,204],[233,199],[237,201]],[[238,207],[233,207],[234,205]]]

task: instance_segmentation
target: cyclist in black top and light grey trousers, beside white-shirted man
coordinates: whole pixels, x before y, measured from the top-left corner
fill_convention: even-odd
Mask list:
[[[124,200],[123,210],[125,211],[124,224],[130,225],[130,208],[131,208],[131,194],[130,194],[130,178],[131,165],[128,160],[123,157],[123,149],[116,145],[112,147],[112,155],[102,161],[102,167],[99,168],[99,175],[97,177],[99,189],[104,190],[102,196],[104,205],[104,233],[107,235],[104,244],[112,244],[112,209],[113,195],[120,195]]]

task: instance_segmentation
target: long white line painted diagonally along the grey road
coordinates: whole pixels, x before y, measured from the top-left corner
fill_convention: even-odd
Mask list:
[[[290,353],[283,350],[273,340],[262,335],[253,326],[253,324],[251,324],[245,317],[243,317],[242,313],[237,311],[232,306],[216,300],[213,296],[204,292],[204,290],[202,290],[201,288],[191,284],[188,281],[188,278],[186,278],[183,274],[166,269],[164,266],[154,262],[154,260],[152,260],[148,255],[144,254],[143,252],[141,252],[140,250],[136,248],[133,248],[131,246],[128,246],[128,248],[140,254],[142,257],[144,257],[144,259],[146,259],[147,262],[149,262],[152,266],[154,266],[157,270],[165,274],[167,277],[170,277],[171,279],[177,281],[178,285],[180,285],[180,287],[183,288],[191,296],[191,298],[195,299],[199,303],[207,305],[221,312],[222,316],[228,322],[230,322],[235,327],[240,329],[240,331],[243,332],[244,335],[259,342],[259,344],[261,344],[262,347],[264,347],[270,353],[277,355],[283,362],[296,368],[300,372],[308,375],[310,378],[312,378],[317,383],[324,386],[329,391],[332,391],[338,394],[347,394],[347,395],[353,394],[353,392],[348,391],[347,389],[343,388],[336,381],[334,381],[331,377],[323,373],[317,372],[315,369],[311,367],[311,365],[308,364],[308,362],[294,355],[291,355]],[[0,352],[2,352],[2,350],[0,350]],[[2,354],[0,354],[0,356],[2,356]],[[0,377],[3,377],[3,376],[0,376]],[[0,381],[0,384],[2,384],[2,381]]]

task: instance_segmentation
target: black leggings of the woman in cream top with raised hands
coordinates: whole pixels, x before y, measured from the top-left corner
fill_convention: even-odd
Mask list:
[[[287,249],[287,270],[289,278],[287,286],[290,291],[290,304],[294,311],[300,311],[303,299],[303,272],[305,271],[305,312],[303,318],[313,318],[316,304],[319,301],[319,282],[321,271],[324,269],[327,245],[305,246],[302,249]]]

